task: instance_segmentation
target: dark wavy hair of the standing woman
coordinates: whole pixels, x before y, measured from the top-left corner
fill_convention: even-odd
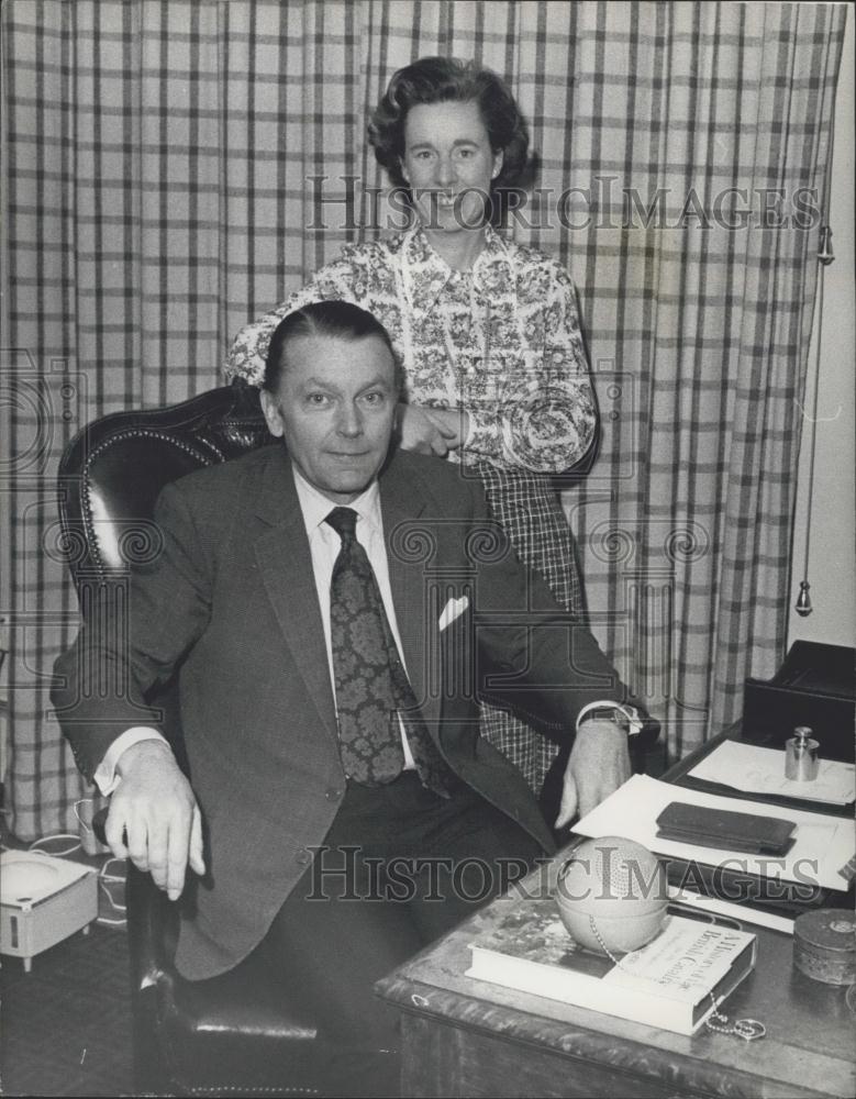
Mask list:
[[[404,123],[411,107],[448,102],[478,103],[491,149],[503,153],[493,189],[513,184],[526,164],[529,148],[529,134],[514,97],[496,73],[479,68],[475,62],[458,62],[453,57],[421,57],[399,69],[371,115],[368,141],[392,182],[397,187],[408,186],[401,162]]]

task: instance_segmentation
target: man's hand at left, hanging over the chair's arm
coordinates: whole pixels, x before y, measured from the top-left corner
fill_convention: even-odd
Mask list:
[[[120,782],[104,832],[116,858],[151,872],[156,886],[177,900],[187,864],[205,873],[202,818],[193,791],[163,741],[140,741],[119,757]]]

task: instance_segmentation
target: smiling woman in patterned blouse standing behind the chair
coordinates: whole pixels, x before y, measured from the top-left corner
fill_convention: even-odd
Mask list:
[[[574,537],[552,480],[596,433],[575,289],[554,259],[490,225],[497,189],[526,162],[518,106],[493,73],[424,57],[392,77],[368,133],[392,184],[408,190],[414,224],[346,246],[244,328],[227,374],[260,385],[274,329],[311,301],[374,313],[404,368],[400,445],[476,471],[518,555],[579,614]],[[555,746],[488,707],[481,731],[538,793]]]

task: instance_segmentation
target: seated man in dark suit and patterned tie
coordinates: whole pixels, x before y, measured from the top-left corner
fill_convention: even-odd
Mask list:
[[[80,768],[112,792],[113,852],[185,892],[179,972],[269,951],[318,999],[357,1092],[381,1089],[356,1075],[360,1051],[396,1042],[373,983],[553,846],[479,737],[477,696],[576,731],[559,823],[629,774],[626,730],[597,711],[621,711],[614,669],[475,480],[391,447],[398,399],[370,314],[287,317],[262,395],[286,445],[163,492],[130,636],[89,615],[54,692]],[[146,708],[176,673],[188,777]]]

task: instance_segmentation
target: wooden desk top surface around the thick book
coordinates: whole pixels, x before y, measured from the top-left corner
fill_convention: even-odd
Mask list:
[[[520,888],[551,888],[562,855]],[[557,1000],[465,977],[469,943],[489,931],[516,897],[501,898],[427,947],[377,986],[402,1010],[577,1058],[607,1062],[652,1083],[729,1096],[856,1095],[856,1000],[803,976],[791,964],[790,935],[752,928],[755,970],[725,1001],[729,1017],[760,1020],[767,1036],[746,1043],[702,1028],[687,1037]],[[853,1007],[851,1007],[853,1004]]]

